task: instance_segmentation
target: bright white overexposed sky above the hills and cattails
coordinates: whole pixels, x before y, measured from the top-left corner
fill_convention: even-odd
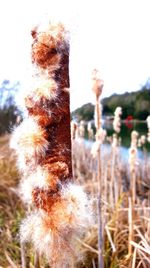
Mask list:
[[[93,102],[91,71],[103,97],[134,91],[150,77],[150,0],[1,0],[0,81],[27,79],[30,30],[45,17],[71,30],[71,107]]]

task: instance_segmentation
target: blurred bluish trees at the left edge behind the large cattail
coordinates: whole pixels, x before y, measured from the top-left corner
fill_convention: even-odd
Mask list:
[[[10,133],[19,114],[15,104],[15,94],[19,83],[4,80],[0,86],[0,135]]]

